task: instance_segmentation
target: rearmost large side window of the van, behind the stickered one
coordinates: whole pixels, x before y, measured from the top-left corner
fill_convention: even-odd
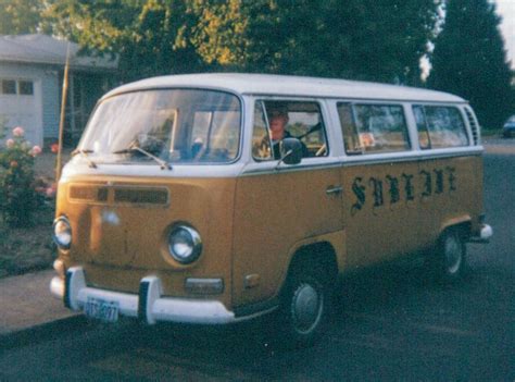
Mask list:
[[[457,108],[414,106],[413,113],[422,149],[468,146],[465,123]]]

